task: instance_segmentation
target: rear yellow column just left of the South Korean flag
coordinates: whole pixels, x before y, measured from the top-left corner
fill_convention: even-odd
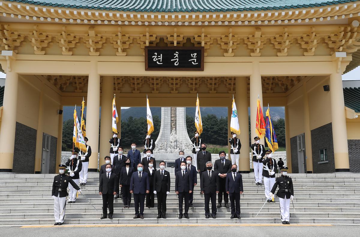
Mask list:
[[[113,98],[114,98],[114,77],[103,76],[102,87],[101,87],[99,166],[105,164],[104,157],[109,156],[109,149],[110,149],[109,139],[112,137],[111,113],[112,113]],[[119,106],[117,107],[120,108]],[[118,113],[119,111],[120,109],[118,109]]]

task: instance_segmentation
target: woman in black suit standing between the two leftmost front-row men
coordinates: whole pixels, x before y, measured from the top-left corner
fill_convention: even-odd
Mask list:
[[[122,201],[124,208],[130,208],[131,193],[130,193],[130,179],[134,173],[134,167],[130,166],[130,159],[125,160],[125,166],[120,170],[120,187],[122,188]]]

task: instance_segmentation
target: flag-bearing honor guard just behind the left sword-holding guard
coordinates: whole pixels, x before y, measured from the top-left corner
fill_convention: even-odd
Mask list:
[[[81,160],[78,160],[77,151],[73,151],[71,157],[66,161],[65,165],[68,167],[70,178],[79,184],[79,173],[82,169]],[[75,203],[76,201],[76,187],[69,185],[69,201],[68,203]]]

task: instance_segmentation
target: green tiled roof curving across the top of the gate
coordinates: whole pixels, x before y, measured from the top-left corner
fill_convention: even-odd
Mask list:
[[[358,0],[6,0],[40,6],[125,12],[242,12],[301,9]]]

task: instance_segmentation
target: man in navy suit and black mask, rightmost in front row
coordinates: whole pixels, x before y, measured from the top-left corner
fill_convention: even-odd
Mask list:
[[[240,219],[240,194],[243,193],[243,178],[237,172],[237,165],[231,166],[231,172],[226,175],[225,189],[230,197],[231,219]]]

